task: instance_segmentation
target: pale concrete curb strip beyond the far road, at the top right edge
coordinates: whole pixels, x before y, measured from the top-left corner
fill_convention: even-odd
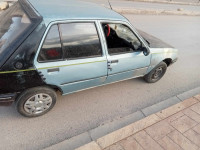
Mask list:
[[[188,2],[175,2],[175,1],[167,1],[167,0],[127,0],[127,1],[135,1],[135,2],[148,2],[148,3],[163,3],[163,4],[176,4],[176,5],[194,5],[200,6],[200,3],[188,3]]]

